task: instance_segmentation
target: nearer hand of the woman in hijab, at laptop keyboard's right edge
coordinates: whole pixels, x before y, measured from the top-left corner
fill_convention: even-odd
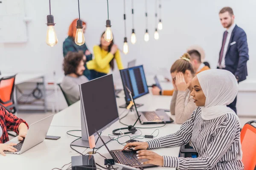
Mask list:
[[[163,166],[163,156],[160,156],[150,150],[138,150],[137,153],[138,159],[148,159],[148,161],[143,162],[143,164]]]

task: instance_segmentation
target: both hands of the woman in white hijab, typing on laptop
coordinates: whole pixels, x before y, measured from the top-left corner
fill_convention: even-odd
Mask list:
[[[133,149],[137,151],[138,159],[148,159],[148,161],[143,162],[143,164],[154,164],[158,166],[163,166],[163,156],[158,155],[152,151],[146,150],[148,149],[147,142],[131,142],[125,145],[122,150],[125,149]]]

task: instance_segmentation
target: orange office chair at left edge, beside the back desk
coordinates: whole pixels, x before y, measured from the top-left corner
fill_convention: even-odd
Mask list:
[[[14,76],[0,78],[0,105],[10,113],[16,112],[13,98],[15,77],[16,74]]]

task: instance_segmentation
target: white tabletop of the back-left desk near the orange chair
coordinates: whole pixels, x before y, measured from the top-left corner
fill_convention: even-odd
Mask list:
[[[12,76],[15,73],[4,73],[1,74],[0,77]],[[40,73],[18,73],[15,77],[15,85],[21,84],[23,82],[28,82],[33,79],[38,79],[44,77],[44,74]]]

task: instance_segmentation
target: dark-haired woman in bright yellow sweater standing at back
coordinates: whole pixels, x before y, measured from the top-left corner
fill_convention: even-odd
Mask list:
[[[103,32],[100,40],[100,45],[93,47],[94,59],[86,63],[87,69],[91,70],[91,79],[96,79],[107,75],[110,68],[114,69],[114,59],[116,59],[119,70],[124,69],[120,52],[117,45],[114,44],[114,39],[107,42],[104,39],[105,32]]]

